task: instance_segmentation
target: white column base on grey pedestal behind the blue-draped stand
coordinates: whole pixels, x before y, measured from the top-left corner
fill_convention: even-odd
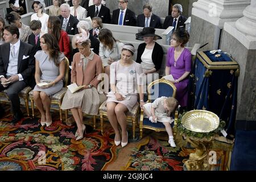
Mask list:
[[[208,42],[204,50],[218,49],[224,23],[234,22],[241,18],[242,11],[248,5],[250,5],[250,0],[199,0],[194,2],[189,46]]]

